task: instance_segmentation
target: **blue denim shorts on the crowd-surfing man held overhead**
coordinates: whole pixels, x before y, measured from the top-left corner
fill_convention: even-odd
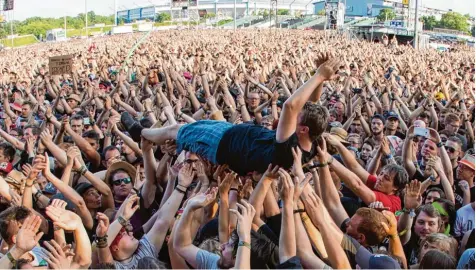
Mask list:
[[[177,153],[189,151],[217,164],[220,140],[233,125],[224,121],[202,120],[182,126],[177,134]]]

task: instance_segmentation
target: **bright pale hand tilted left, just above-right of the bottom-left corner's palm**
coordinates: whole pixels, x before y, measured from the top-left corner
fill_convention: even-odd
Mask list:
[[[77,214],[64,209],[63,204],[60,202],[54,203],[56,200],[58,199],[53,200],[53,203],[46,207],[46,214],[51,218],[55,226],[65,231],[75,231],[83,226],[83,222]]]

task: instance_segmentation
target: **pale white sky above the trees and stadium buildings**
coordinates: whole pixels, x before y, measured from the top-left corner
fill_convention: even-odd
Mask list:
[[[114,1],[117,1],[118,10],[151,6],[167,0],[87,0],[88,11],[100,15],[114,13]],[[279,1],[279,0],[278,0]],[[474,0],[420,0],[423,6],[437,9],[452,9],[462,14],[475,15]],[[76,16],[85,10],[85,1],[81,0],[15,0],[13,17],[15,20],[24,20],[28,17],[63,17]],[[10,15],[7,19],[10,19]]]

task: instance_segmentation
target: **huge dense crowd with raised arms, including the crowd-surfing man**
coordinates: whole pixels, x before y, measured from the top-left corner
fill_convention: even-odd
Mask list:
[[[0,66],[2,269],[475,267],[464,47],[171,30]]]

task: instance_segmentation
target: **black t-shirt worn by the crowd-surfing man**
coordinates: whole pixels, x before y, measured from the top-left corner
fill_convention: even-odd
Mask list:
[[[296,134],[279,143],[274,130],[250,124],[235,125],[220,140],[217,162],[228,164],[239,175],[253,171],[265,172],[269,164],[289,169],[293,165],[291,149],[298,145]],[[302,151],[303,163],[311,160],[315,151],[315,147],[312,147],[311,152]]]

